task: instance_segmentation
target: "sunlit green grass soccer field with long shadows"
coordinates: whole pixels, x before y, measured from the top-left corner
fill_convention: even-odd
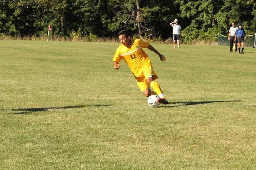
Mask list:
[[[1,170],[256,169],[256,49],[152,44],[150,108],[118,45],[0,41]]]

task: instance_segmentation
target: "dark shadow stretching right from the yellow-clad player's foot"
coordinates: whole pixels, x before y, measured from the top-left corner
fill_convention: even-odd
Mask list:
[[[186,101],[186,102],[169,102],[168,105],[163,107],[179,107],[179,106],[188,106],[188,105],[203,105],[209,103],[218,103],[218,102],[241,102],[241,100],[217,100],[217,101]]]

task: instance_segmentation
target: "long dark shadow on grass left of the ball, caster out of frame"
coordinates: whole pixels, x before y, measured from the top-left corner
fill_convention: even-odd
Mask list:
[[[111,104],[93,104],[93,105],[46,107],[46,108],[18,108],[18,109],[8,109],[8,110],[2,110],[2,111],[18,111],[17,113],[13,113],[13,114],[29,114],[29,113],[35,113],[35,112],[40,112],[40,111],[50,111],[53,109],[73,109],[73,108],[99,107],[99,106],[113,106],[113,105],[111,105]]]

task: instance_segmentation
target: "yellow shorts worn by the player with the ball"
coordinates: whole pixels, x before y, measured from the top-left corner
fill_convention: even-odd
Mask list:
[[[153,67],[151,64],[144,65],[142,68],[142,74],[141,77],[135,77],[137,85],[139,86],[141,91],[144,91],[145,89],[149,88],[149,84],[146,82],[146,79],[148,77],[152,77],[153,80],[157,79],[157,74],[154,72]]]

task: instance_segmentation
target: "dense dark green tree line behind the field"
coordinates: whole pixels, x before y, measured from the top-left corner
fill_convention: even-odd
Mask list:
[[[256,31],[255,0],[0,0],[0,35],[116,37],[122,29],[148,38],[172,37],[175,18],[183,41],[215,40],[231,22]]]

